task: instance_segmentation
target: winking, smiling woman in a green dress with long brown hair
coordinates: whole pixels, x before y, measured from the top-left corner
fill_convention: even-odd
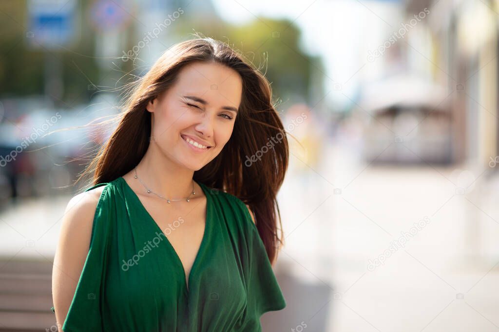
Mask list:
[[[63,218],[58,326],[261,331],[286,305],[271,264],[288,144],[267,80],[222,42],[185,41],[120,116]]]

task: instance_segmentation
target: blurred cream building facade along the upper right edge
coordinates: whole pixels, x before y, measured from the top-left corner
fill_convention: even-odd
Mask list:
[[[447,88],[453,160],[483,167],[499,154],[498,4],[409,0],[406,6],[407,17],[429,10],[417,26],[421,32],[409,35],[406,58],[410,68],[431,73],[433,81]],[[430,46],[421,49],[421,44]]]

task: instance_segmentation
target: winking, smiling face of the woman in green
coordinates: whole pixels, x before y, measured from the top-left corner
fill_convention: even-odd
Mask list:
[[[185,66],[176,83],[147,106],[154,117],[151,144],[173,162],[201,169],[231,138],[242,91],[242,79],[231,68],[199,62]]]

